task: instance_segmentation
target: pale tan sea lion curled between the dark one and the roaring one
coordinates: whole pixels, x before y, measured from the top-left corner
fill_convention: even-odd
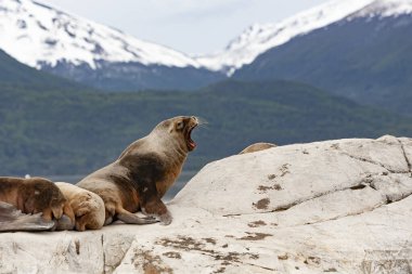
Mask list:
[[[102,229],[105,211],[104,203],[98,194],[69,183],[56,182],[55,185],[63,193],[74,212],[77,231]]]

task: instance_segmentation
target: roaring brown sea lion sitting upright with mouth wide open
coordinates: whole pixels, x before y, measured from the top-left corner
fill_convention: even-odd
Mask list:
[[[136,141],[113,164],[91,173],[77,185],[99,194],[106,209],[105,224],[118,219],[146,224],[170,224],[171,214],[162,197],[179,177],[188,153],[196,147],[191,133],[196,117],[179,116],[158,123]],[[139,218],[139,209],[149,217]]]

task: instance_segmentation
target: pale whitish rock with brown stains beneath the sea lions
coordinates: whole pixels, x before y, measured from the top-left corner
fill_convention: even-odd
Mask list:
[[[0,234],[0,273],[411,273],[412,139],[274,147],[207,165],[169,226]]]

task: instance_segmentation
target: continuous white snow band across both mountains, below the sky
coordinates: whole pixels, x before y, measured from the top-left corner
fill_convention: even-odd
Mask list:
[[[31,0],[0,0],[0,49],[36,68],[59,62],[91,68],[101,61],[136,62],[204,67],[231,76],[266,51],[333,23],[405,13],[412,13],[412,0],[332,0],[279,23],[255,24],[224,50],[192,57]]]

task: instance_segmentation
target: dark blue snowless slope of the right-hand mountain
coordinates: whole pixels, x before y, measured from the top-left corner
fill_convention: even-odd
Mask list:
[[[236,71],[234,77],[304,81],[362,104],[412,115],[409,105],[412,15],[385,17],[386,10],[376,8],[371,5],[368,13],[361,11],[348,21],[276,47]]]

